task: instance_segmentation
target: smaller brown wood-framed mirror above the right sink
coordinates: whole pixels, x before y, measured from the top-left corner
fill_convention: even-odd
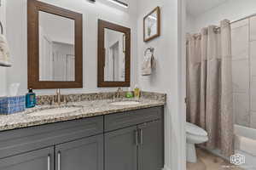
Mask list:
[[[98,87],[130,87],[131,29],[98,20]]]

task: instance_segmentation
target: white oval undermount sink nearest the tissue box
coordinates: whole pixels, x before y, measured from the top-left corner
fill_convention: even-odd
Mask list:
[[[80,106],[56,106],[53,108],[39,109],[29,113],[29,116],[53,116],[60,114],[73,113],[82,110]]]

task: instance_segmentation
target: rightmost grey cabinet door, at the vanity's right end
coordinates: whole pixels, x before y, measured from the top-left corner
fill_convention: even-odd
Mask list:
[[[160,170],[164,167],[163,131],[161,121],[138,126],[138,170]]]

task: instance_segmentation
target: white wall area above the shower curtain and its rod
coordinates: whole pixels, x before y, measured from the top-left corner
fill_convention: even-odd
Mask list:
[[[229,0],[227,3],[212,8],[205,14],[196,16],[195,31],[200,31],[202,27],[218,25],[220,20],[239,20],[250,14],[256,13],[255,0]]]

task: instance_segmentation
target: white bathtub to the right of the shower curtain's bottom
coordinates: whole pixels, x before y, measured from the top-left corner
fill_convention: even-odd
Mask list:
[[[235,125],[236,154],[246,157],[245,170],[256,169],[256,129]]]

